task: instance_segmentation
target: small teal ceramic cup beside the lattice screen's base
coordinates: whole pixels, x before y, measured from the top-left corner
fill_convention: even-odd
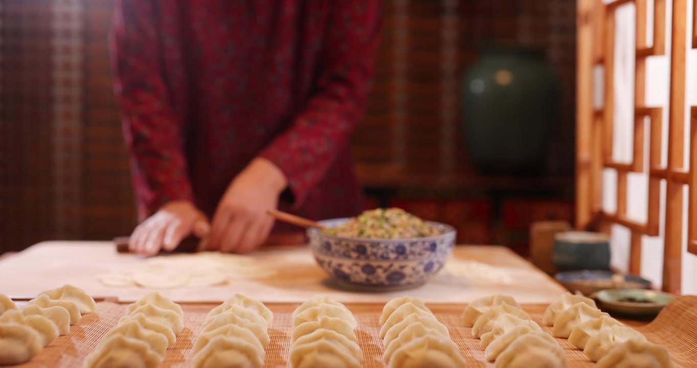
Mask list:
[[[560,272],[610,270],[610,238],[586,231],[557,233],[552,261]]]

